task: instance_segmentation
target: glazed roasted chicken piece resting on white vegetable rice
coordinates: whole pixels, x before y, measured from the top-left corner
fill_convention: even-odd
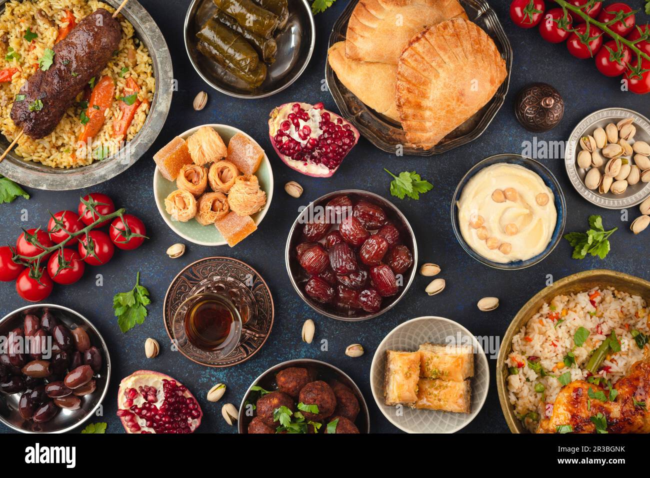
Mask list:
[[[650,393],[650,348],[646,347],[643,360],[632,367],[626,377],[614,384],[618,395],[613,402],[589,398],[602,388],[584,380],[575,380],[564,386],[555,399],[551,418],[539,422],[538,433],[555,433],[562,425],[571,425],[573,432],[595,433],[591,417],[603,414],[610,433],[650,433],[650,413],[647,403]],[[607,392],[604,391],[605,395]],[[636,401],[636,405],[634,403]]]

